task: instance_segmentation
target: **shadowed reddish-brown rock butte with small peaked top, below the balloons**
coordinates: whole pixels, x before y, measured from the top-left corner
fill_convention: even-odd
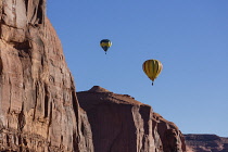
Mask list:
[[[77,92],[92,130],[94,152],[185,152],[175,124],[127,94],[99,86]]]

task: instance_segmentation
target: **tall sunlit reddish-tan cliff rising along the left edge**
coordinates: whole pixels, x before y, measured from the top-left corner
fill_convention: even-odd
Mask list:
[[[45,0],[0,0],[0,151],[93,151]]]

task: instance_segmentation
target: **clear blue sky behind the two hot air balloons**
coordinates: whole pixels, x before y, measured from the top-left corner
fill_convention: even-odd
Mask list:
[[[48,0],[76,90],[130,94],[183,134],[228,137],[228,0]],[[107,54],[101,39],[113,46]],[[142,63],[164,69],[151,86]]]

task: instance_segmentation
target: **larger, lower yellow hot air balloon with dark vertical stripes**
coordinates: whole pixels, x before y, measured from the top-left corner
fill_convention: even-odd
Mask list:
[[[145,75],[152,80],[152,86],[154,79],[160,75],[162,72],[163,65],[159,60],[147,60],[142,64],[142,69],[144,71]]]

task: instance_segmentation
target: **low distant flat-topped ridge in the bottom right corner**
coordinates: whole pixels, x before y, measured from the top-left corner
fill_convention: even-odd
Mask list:
[[[187,152],[228,152],[228,138],[216,135],[185,135]]]

